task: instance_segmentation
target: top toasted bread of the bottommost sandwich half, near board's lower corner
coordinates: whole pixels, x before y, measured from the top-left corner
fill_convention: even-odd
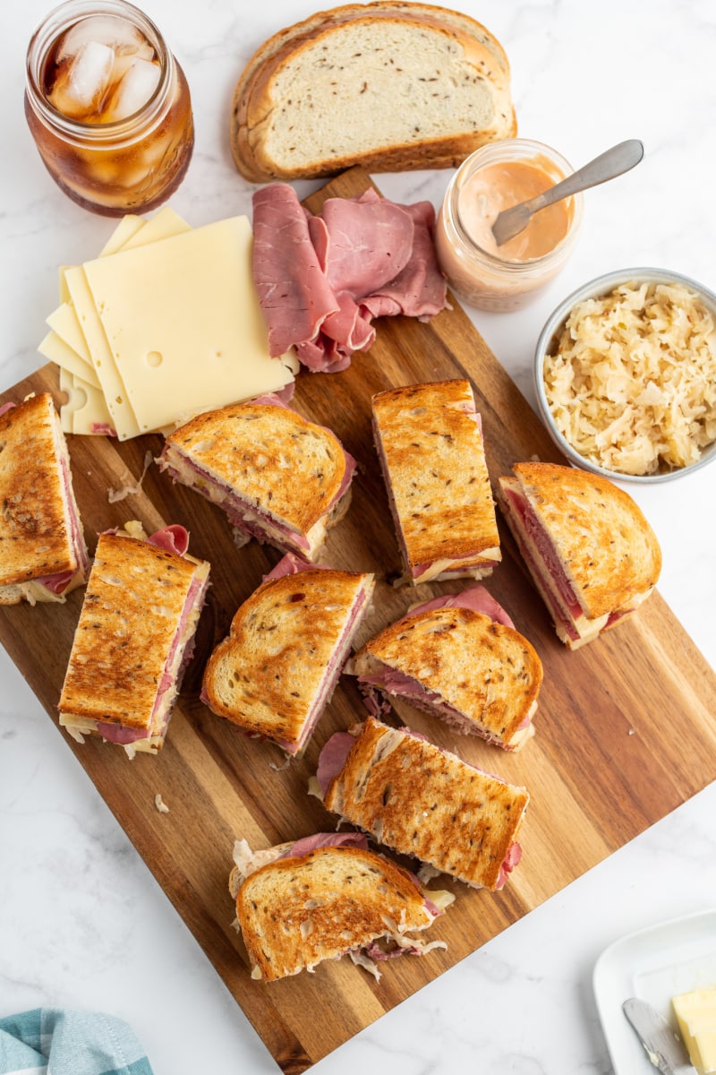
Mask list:
[[[421,890],[393,862],[354,847],[320,847],[252,873],[236,894],[252,966],[275,981],[392,932],[430,924]]]

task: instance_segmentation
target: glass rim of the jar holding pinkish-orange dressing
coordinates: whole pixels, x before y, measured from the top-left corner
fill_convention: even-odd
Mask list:
[[[480,257],[484,258],[485,261],[495,270],[511,272],[518,275],[520,273],[528,273],[538,266],[549,266],[553,261],[564,257],[571,249],[576,240],[576,234],[582,223],[583,198],[581,194],[571,196],[572,217],[567,232],[559,240],[556,246],[554,246],[551,250],[547,250],[546,254],[541,254],[534,258],[516,259],[501,257],[497,253],[485,249],[484,246],[481,246],[480,243],[467,231],[463,220],[461,219],[458,203],[462,184],[464,184],[481,168],[484,168],[489,163],[497,163],[498,161],[507,162],[510,159],[514,159],[515,152],[517,155],[524,155],[524,159],[528,159],[529,154],[531,154],[532,158],[541,154],[546,157],[551,163],[554,163],[560,169],[562,177],[565,178],[574,171],[570,162],[562,157],[560,153],[553,149],[552,146],[546,145],[544,142],[537,142],[532,139],[500,139],[497,142],[488,142],[486,145],[480,146],[480,148],[474,149],[469,157],[465,158],[450,181],[445,195],[445,203],[451,205],[453,227],[465,246],[469,247],[472,253],[477,253]]]

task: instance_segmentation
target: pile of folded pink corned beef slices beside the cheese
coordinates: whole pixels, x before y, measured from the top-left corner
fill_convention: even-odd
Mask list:
[[[288,184],[253,196],[253,275],[269,353],[295,346],[312,372],[338,372],[367,350],[376,317],[427,319],[445,305],[430,202],[397,205],[375,190],[330,198],[320,214]]]

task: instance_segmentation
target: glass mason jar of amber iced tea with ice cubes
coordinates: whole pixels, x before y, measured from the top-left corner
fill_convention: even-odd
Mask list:
[[[106,216],[165,201],[191,159],[187,80],[125,0],[69,0],[47,15],[28,47],[25,114],[58,186]]]

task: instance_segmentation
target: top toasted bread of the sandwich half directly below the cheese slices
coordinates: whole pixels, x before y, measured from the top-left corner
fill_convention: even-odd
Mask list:
[[[328,511],[346,474],[331,430],[272,403],[196,415],[170,433],[166,446],[302,534]]]

